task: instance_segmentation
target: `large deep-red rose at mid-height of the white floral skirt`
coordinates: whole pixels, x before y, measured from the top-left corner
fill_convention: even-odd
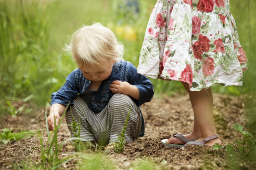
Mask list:
[[[199,41],[196,41],[193,46],[193,52],[196,59],[202,61],[202,53],[208,52],[210,49],[210,40],[207,36],[199,35]]]

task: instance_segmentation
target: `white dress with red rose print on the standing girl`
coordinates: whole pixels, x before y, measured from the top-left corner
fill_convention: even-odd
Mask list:
[[[200,91],[215,83],[242,86],[246,63],[228,0],[158,0],[137,71]]]

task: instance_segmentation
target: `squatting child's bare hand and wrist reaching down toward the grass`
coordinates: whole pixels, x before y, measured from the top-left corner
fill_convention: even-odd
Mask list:
[[[50,114],[47,117],[48,129],[49,131],[54,130],[54,119],[56,122],[56,126],[59,124],[60,117],[63,115],[66,109],[65,105],[55,103],[50,107]]]

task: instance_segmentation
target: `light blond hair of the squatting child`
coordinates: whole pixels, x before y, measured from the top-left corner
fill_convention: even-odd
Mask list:
[[[71,51],[79,67],[104,64],[123,57],[123,45],[119,44],[110,29],[100,23],[78,29],[66,50]]]

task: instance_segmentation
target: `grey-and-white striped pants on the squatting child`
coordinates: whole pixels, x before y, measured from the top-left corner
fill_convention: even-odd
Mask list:
[[[99,113],[94,113],[88,108],[82,97],[77,96],[73,100],[72,114],[75,122],[81,122],[80,137],[84,141],[96,141],[98,145],[105,146],[111,141],[118,139],[124,126],[127,115],[131,107],[130,117],[125,131],[125,140],[131,142],[137,139],[142,126],[142,118],[138,106],[133,100],[124,94],[114,94],[108,105]],[[70,128],[72,123],[71,111],[66,113],[71,137],[73,133]]]

